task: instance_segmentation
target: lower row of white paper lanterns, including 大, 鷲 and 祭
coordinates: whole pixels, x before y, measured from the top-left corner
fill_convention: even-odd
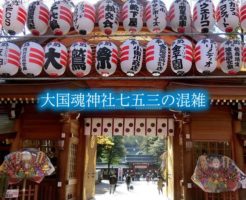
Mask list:
[[[114,74],[118,66],[118,48],[109,41],[96,46],[96,71],[102,76]],[[243,58],[243,60],[242,60]],[[161,39],[153,39],[146,46],[145,63],[153,76],[159,76],[167,69],[169,47]],[[228,40],[217,45],[211,39],[198,41],[195,49],[187,39],[177,39],[171,45],[171,69],[183,75],[192,68],[193,60],[200,73],[212,73],[219,64],[227,74],[240,71],[242,62],[246,63],[246,45],[238,40]],[[128,76],[137,74],[143,63],[143,47],[135,39],[126,40],[120,46],[120,66]],[[90,73],[93,64],[92,49],[89,44],[75,42],[69,51],[60,42],[50,42],[43,49],[39,44],[26,42],[20,49],[13,43],[0,43],[0,75],[14,76],[19,67],[25,75],[38,76],[44,71],[53,77],[62,76],[67,65],[78,77]]]

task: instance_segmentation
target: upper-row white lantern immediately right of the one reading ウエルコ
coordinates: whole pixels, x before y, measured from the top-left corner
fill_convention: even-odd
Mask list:
[[[235,0],[221,0],[216,10],[220,30],[233,32],[239,26],[239,7]]]

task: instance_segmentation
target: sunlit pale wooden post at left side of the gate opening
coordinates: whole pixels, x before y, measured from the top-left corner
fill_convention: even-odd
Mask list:
[[[83,200],[95,196],[97,137],[86,136]]]

